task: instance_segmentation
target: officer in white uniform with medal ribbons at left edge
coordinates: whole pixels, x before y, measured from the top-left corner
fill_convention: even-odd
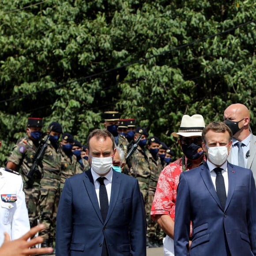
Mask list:
[[[14,240],[29,230],[22,178],[15,171],[0,168],[0,246],[4,242],[4,232]]]

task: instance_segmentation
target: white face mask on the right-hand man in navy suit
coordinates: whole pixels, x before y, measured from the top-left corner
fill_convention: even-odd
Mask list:
[[[228,149],[226,146],[207,147],[208,158],[216,166],[221,166],[228,159]]]

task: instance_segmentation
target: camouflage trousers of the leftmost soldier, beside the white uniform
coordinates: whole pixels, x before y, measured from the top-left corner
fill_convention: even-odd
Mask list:
[[[24,183],[24,192],[30,228],[32,228],[37,226],[39,221],[40,184],[38,182],[34,182],[32,188],[28,188],[26,187],[26,183]]]

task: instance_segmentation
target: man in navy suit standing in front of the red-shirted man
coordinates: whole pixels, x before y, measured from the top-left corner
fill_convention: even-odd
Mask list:
[[[175,256],[256,255],[256,188],[250,169],[227,162],[232,132],[221,122],[202,133],[207,162],[180,175]],[[188,252],[190,222],[192,244]]]

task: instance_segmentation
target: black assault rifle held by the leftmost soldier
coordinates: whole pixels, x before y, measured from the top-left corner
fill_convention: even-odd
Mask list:
[[[49,133],[45,138],[45,140],[40,141],[39,146],[35,151],[35,154],[33,156],[33,164],[29,172],[26,174],[26,177],[28,177],[28,182],[27,182],[28,188],[32,187],[35,179],[41,179],[42,177],[42,173],[40,172],[38,166],[43,168],[42,159],[45,154],[45,150],[47,148],[47,141],[49,139],[51,131],[52,131],[52,127],[50,128]]]

